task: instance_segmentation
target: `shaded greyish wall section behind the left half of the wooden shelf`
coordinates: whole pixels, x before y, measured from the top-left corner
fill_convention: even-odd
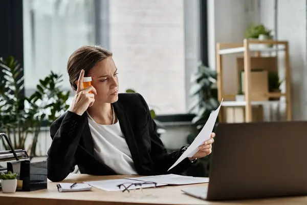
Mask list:
[[[258,21],[258,4],[254,0],[208,0],[209,66],[215,69],[216,43],[243,43],[246,27]],[[240,55],[240,54],[239,54]],[[237,93],[236,54],[223,56],[223,83],[226,94]]]

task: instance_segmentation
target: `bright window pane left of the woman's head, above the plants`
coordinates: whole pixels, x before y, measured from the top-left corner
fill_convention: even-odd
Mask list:
[[[50,71],[63,74],[63,89],[71,89],[69,56],[84,44],[95,44],[93,1],[24,0],[23,5],[26,95]]]

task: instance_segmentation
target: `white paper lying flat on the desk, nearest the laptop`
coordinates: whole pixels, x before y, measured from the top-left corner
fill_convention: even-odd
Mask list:
[[[191,185],[193,183],[209,182],[209,178],[182,176],[182,175],[177,175],[177,174],[144,176],[144,177],[135,177],[135,178],[127,178],[127,179],[134,179],[134,180],[140,180],[140,181],[151,181],[151,182],[156,182],[156,183],[164,183],[167,185]]]

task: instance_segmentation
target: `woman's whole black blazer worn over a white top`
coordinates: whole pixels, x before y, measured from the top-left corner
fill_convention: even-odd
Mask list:
[[[188,158],[167,170],[182,154],[182,149],[167,153],[157,135],[144,98],[138,93],[120,93],[113,104],[121,130],[127,141],[139,175],[180,174],[191,165]],[[82,116],[67,111],[50,128],[52,140],[48,150],[48,178],[61,181],[78,165],[80,173],[116,175],[94,156],[94,142],[86,112]]]

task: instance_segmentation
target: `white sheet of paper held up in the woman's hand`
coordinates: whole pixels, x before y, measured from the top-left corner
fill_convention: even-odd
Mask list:
[[[187,157],[192,157],[196,152],[199,151],[199,146],[202,145],[204,143],[204,141],[210,139],[211,133],[213,131],[215,121],[216,121],[218,112],[221,109],[222,103],[223,103],[223,99],[221,101],[220,106],[218,106],[218,108],[215,111],[210,113],[210,116],[209,116],[205,126],[203,127],[201,132],[198,134],[198,136],[196,136],[196,138],[194,139],[192,144],[188,147],[188,149],[179,157],[179,159],[167,171],[174,168],[183,159],[185,159]]]

